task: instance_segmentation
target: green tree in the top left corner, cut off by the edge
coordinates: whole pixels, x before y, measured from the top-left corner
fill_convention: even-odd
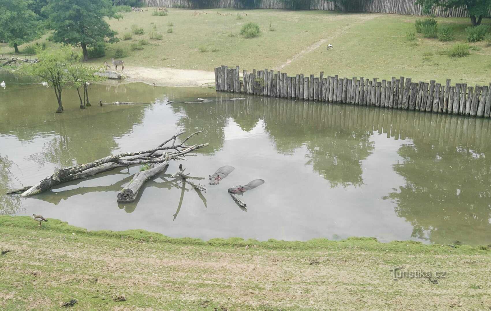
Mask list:
[[[2,0],[0,4],[0,39],[18,45],[39,38],[40,18],[29,9],[29,0]]]

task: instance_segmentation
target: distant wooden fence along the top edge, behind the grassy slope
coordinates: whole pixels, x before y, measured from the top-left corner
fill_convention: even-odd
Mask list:
[[[434,6],[428,14],[423,12],[423,7],[416,4],[416,0],[142,0],[148,6],[165,6],[189,9],[301,9],[301,10],[326,10],[342,12],[371,12],[391,13],[436,17],[469,17],[464,6],[454,7],[448,10],[440,6]],[[491,16],[491,10],[487,17]]]

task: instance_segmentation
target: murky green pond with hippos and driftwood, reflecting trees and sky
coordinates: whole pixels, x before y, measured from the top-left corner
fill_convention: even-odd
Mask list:
[[[154,104],[80,110],[76,92],[66,89],[65,112],[55,114],[52,88],[5,72],[1,80],[7,84],[0,88],[3,215],[36,213],[91,230],[202,239],[491,243],[489,120],[263,97],[230,101],[233,95],[213,90],[110,81],[90,86],[92,103]],[[197,97],[218,101],[167,101]],[[220,166],[235,167],[218,186],[207,185],[205,202],[189,190],[177,209],[181,190],[166,182],[176,163],[133,204],[117,204],[116,195],[137,166],[30,198],[4,194],[56,167],[151,148],[182,129],[204,130],[191,143],[210,143],[183,163],[186,172],[208,177]],[[241,197],[244,212],[227,189],[256,178],[265,184]]]

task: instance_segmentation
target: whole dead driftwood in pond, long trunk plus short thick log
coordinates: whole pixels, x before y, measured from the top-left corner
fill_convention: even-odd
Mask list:
[[[22,189],[22,197],[31,196],[37,193],[48,191],[68,181],[75,179],[86,178],[88,176],[94,176],[98,173],[108,171],[115,167],[139,165],[139,164],[151,164],[150,169],[140,171],[135,174],[132,182],[121,191],[121,195],[118,194],[118,201],[131,202],[135,200],[139,189],[143,184],[151,177],[155,176],[159,172],[162,172],[168,165],[170,160],[184,160],[183,156],[194,150],[208,146],[209,144],[194,144],[186,145],[186,142],[194,135],[201,133],[202,131],[194,132],[188,136],[180,144],[176,144],[177,137],[184,134],[186,131],[180,132],[159,146],[136,152],[126,152],[117,155],[111,155],[87,164],[81,164],[76,167],[68,167],[55,170],[54,174],[41,180],[34,186],[25,187]],[[165,146],[168,142],[172,141],[172,145]],[[168,151],[167,151],[168,150]],[[20,190],[11,191],[10,193],[19,193]]]

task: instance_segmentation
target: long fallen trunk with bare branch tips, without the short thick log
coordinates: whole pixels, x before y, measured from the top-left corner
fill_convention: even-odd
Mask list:
[[[168,155],[174,155],[175,158],[179,158],[180,156],[184,154],[180,154],[183,150],[179,150],[178,148],[188,148],[189,146],[184,145],[186,141],[188,141],[193,135],[201,133],[202,131],[198,131],[195,133],[192,133],[188,138],[186,138],[181,144],[176,145],[176,139],[179,135],[184,134],[186,131],[180,132],[174,136],[172,136],[170,139],[166,140],[164,143],[160,144],[158,147],[150,150],[143,150],[143,151],[137,151],[137,152],[126,152],[126,153],[121,153],[118,155],[112,155],[109,157],[105,157],[87,164],[81,164],[77,167],[68,167],[64,169],[58,169],[55,170],[55,173],[51,176],[46,177],[45,179],[41,180],[39,183],[36,185],[30,187],[27,191],[24,191],[21,196],[22,197],[27,197],[33,194],[41,193],[43,191],[47,191],[55,187],[56,185],[59,185],[61,183],[67,182],[67,181],[72,181],[74,179],[79,179],[79,178],[85,178],[87,176],[93,176],[95,174],[98,174],[100,172],[104,172],[110,169],[113,169],[115,167],[121,167],[121,166],[129,166],[129,165],[135,165],[135,164],[145,164],[145,163],[159,163],[159,162],[164,162],[165,159],[162,159],[162,157],[155,157],[156,153],[160,150],[170,150],[174,149],[176,150],[175,152],[168,154]],[[164,146],[168,142],[173,140],[171,146]],[[207,144],[202,144],[199,145],[198,148],[202,148]],[[187,150],[187,149],[186,149]],[[190,151],[188,151],[190,152]],[[186,153],[188,153],[186,152]]]

